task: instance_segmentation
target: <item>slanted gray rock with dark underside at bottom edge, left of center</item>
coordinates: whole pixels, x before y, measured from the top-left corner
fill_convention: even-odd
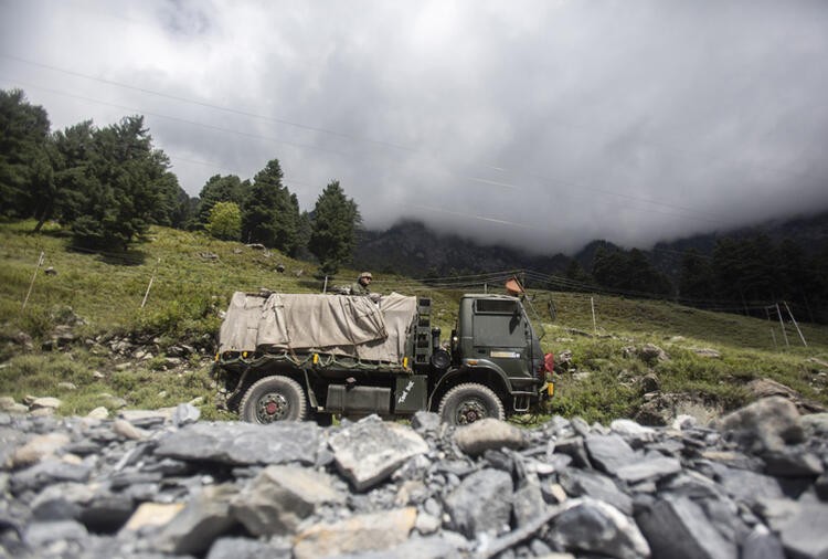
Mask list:
[[[205,552],[213,541],[236,524],[230,515],[233,485],[204,487],[152,539],[152,547],[171,553]]]

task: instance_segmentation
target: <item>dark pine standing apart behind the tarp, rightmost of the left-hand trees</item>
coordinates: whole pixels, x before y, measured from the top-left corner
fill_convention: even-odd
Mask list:
[[[319,194],[308,249],[319,259],[321,272],[333,275],[351,260],[357,245],[357,228],[362,218],[357,202],[346,197],[339,181],[331,181]]]

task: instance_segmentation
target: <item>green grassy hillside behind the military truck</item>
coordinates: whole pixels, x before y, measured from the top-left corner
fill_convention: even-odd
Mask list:
[[[222,416],[213,404],[209,369],[220,312],[231,294],[259,287],[291,293],[321,287],[311,264],[201,234],[155,228],[150,242],[127,255],[93,254],[73,250],[56,226],[33,235],[33,225],[0,224],[0,395],[17,401],[54,395],[63,400],[62,413],[87,413],[98,405],[174,405],[201,398],[206,416]],[[41,252],[45,261],[34,275]],[[277,272],[278,264],[284,273]],[[50,266],[55,275],[44,273]],[[31,297],[22,310],[33,275]],[[333,283],[350,283],[354,276],[355,271],[343,271]],[[375,274],[373,288],[431,296],[444,338],[461,295],[382,274]],[[469,285],[466,291],[481,288]],[[739,405],[753,398],[746,386],[760,378],[828,403],[828,393],[821,391],[826,375],[820,375],[828,369],[826,327],[800,325],[806,348],[788,326],[786,347],[778,321],[660,302],[591,299],[587,294],[530,296],[539,310],[538,323],[546,330],[544,350],[572,352],[560,375],[552,413],[580,414],[588,421],[635,416],[654,405],[652,395],[645,395],[652,388],[643,380],[648,376],[657,379],[662,397],[680,394],[670,397],[679,408]],[[554,319],[546,310],[550,300]],[[44,350],[44,342],[64,347]],[[119,344],[127,342],[134,345],[131,350],[119,351]],[[645,344],[659,346],[669,359],[643,357],[636,349]],[[715,349],[721,357],[701,357],[694,348]]]

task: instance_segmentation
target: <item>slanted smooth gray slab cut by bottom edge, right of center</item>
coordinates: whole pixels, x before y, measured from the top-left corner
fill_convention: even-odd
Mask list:
[[[704,510],[687,497],[659,499],[636,515],[655,557],[731,559],[733,541],[724,539]]]

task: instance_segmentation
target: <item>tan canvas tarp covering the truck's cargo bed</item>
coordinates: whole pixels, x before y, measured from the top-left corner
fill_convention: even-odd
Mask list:
[[[361,296],[235,293],[219,350],[314,350],[399,363],[415,314],[416,297],[396,293],[379,305]]]

